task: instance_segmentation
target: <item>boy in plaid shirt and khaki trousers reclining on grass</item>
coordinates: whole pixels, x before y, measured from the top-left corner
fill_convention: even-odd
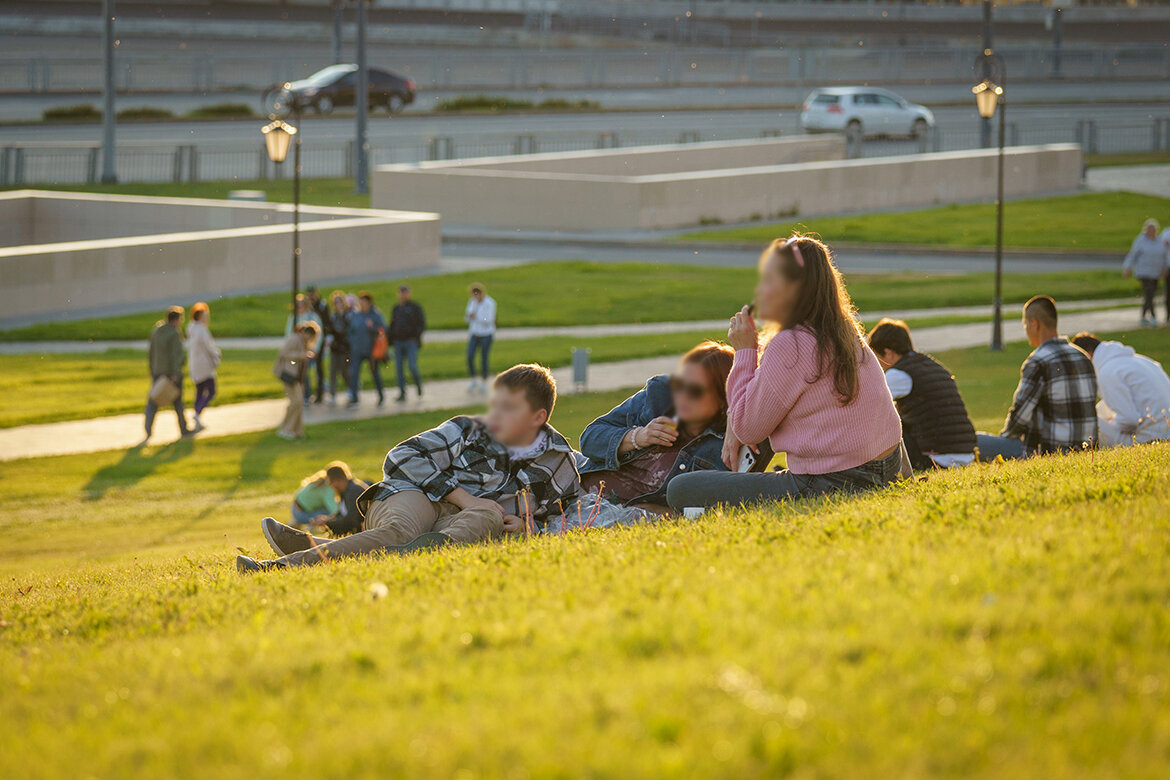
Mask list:
[[[543,526],[580,490],[576,453],[549,424],[556,400],[557,384],[548,368],[512,366],[496,377],[486,416],[453,417],[390,450],[383,481],[358,499],[364,531],[318,539],[264,518],[264,537],[282,557],[259,561],[240,555],[236,568],[310,566]]]

